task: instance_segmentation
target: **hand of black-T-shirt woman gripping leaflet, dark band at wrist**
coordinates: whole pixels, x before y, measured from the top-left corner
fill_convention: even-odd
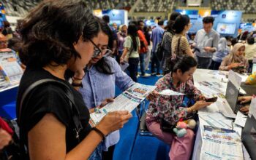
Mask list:
[[[97,128],[104,134],[116,131],[124,127],[124,124],[132,117],[128,111],[115,111],[108,113],[102,121],[99,122]]]

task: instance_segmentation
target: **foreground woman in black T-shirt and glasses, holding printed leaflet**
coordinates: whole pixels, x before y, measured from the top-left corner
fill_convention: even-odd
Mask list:
[[[88,159],[105,135],[131,116],[127,111],[109,113],[91,128],[83,97],[72,87],[80,86],[83,68],[99,54],[94,52],[99,32],[99,23],[78,0],[42,1],[23,21],[19,53],[26,71],[17,97],[23,159]],[[64,79],[67,69],[75,72],[72,85]],[[42,79],[66,84],[74,97],[72,108],[64,87],[53,83],[35,87],[20,104],[31,84]],[[78,132],[74,116],[80,122]]]

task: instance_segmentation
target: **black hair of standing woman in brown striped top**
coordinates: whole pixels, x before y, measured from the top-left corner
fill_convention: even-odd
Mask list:
[[[190,19],[188,15],[179,15],[173,23],[173,30],[175,33],[184,31],[186,25],[189,25]]]

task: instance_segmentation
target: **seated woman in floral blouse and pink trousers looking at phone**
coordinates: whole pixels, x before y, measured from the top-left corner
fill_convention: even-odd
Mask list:
[[[157,81],[156,91],[170,89],[186,95],[192,95],[192,99],[195,101],[203,100],[204,97],[191,81],[196,68],[197,62],[193,57],[188,55],[182,57],[174,65],[173,72],[166,74]],[[176,137],[173,133],[162,131],[161,121],[164,120],[170,125],[176,125],[180,119],[186,119],[190,113],[195,113],[200,108],[211,104],[205,101],[197,101],[191,107],[183,106],[183,99],[183,95],[170,97],[158,95],[151,100],[147,111],[146,124],[148,130],[154,136],[170,145],[170,159],[189,159],[193,150],[195,134],[191,129],[187,129],[187,135]]]

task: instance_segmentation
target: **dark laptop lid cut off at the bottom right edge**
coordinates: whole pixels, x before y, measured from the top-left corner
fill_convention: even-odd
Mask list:
[[[242,131],[242,142],[252,160],[256,159],[256,120],[248,117]]]

